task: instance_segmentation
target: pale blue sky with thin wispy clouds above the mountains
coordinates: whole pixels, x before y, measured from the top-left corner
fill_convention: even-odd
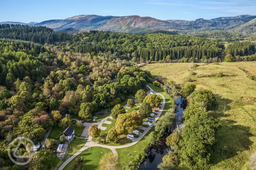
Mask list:
[[[139,15],[195,20],[256,15],[256,0],[1,0],[0,22],[42,22],[75,15]]]

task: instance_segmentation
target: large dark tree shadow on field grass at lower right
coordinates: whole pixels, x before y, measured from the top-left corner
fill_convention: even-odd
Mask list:
[[[216,133],[216,145],[211,155],[211,163],[217,164],[225,159],[237,155],[237,152],[248,150],[253,142],[250,128],[243,125],[234,125],[232,120],[222,120],[221,128]]]

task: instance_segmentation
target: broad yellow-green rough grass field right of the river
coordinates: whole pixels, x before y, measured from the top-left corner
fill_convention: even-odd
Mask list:
[[[248,169],[249,155],[256,149],[256,103],[250,99],[256,97],[256,81],[238,67],[255,76],[256,62],[197,64],[192,70],[189,70],[190,63],[155,63],[142,68],[181,85],[190,78],[196,90],[211,90],[218,102],[213,116],[222,124],[211,154],[211,169]],[[209,76],[220,72],[224,76]]]

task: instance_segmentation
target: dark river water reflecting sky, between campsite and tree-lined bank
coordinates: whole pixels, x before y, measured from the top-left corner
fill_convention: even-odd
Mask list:
[[[177,105],[176,108],[176,125],[182,124],[181,117],[183,116],[184,109],[187,106],[187,100],[182,96],[179,96],[178,99],[175,100]],[[147,170],[156,170],[157,165],[162,162],[162,158],[165,154],[167,154],[167,150],[170,149],[165,144],[166,137],[170,134],[170,130],[166,130],[166,133],[157,141],[151,150],[148,152],[148,156],[146,157],[145,161],[141,163],[140,169],[147,169]]]

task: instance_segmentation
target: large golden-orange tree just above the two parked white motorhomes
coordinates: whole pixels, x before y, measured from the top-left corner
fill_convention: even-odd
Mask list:
[[[132,118],[130,113],[120,114],[116,119],[116,130],[119,133],[131,134],[136,126],[136,121]]]

